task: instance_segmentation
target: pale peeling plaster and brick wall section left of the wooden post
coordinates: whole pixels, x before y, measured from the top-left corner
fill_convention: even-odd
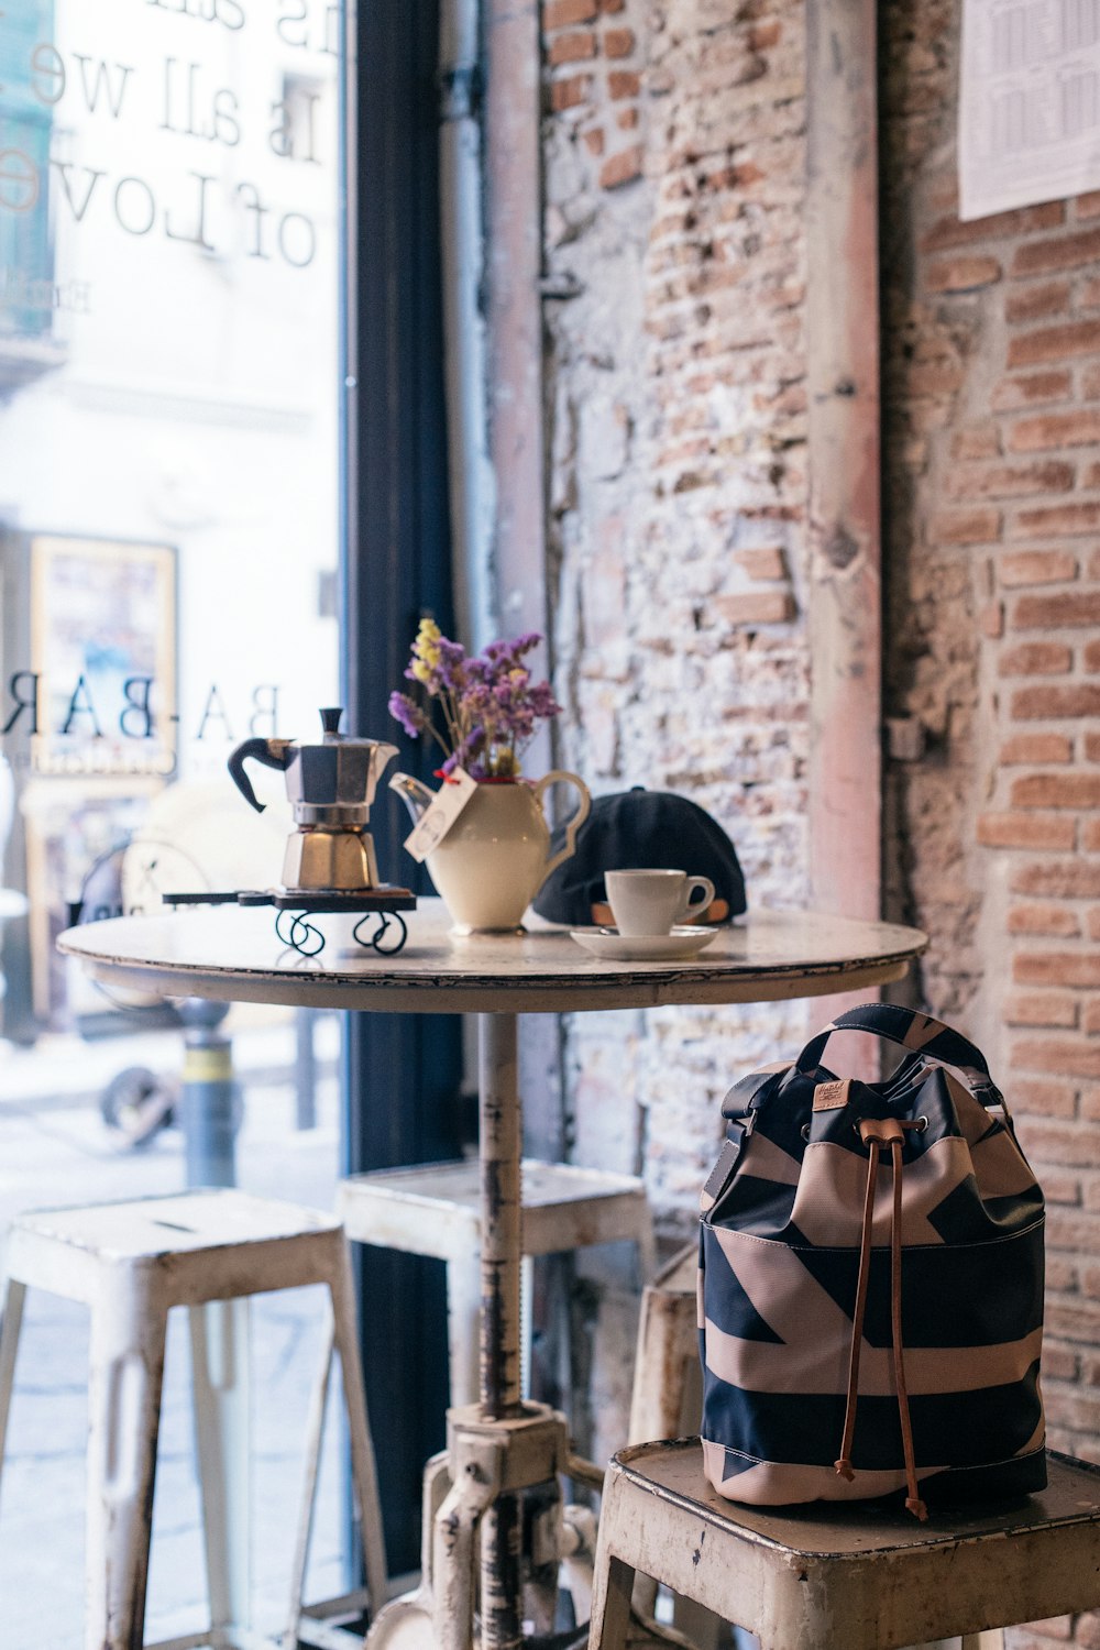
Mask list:
[[[605,0],[607,7],[607,0]],[[800,5],[557,0],[546,20],[546,396],[557,690],[594,790],[693,797],[757,904],[806,898]],[[605,41],[612,38],[610,56]],[[562,45],[567,43],[567,45]],[[693,1236],[726,1087],[806,1005],[576,1016],[577,1162]],[[627,1267],[592,1341],[622,1442]],[[632,1333],[632,1327],[630,1327]]]

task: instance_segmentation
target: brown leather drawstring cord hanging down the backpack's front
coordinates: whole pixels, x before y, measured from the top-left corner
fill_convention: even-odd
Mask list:
[[[851,1444],[856,1431],[856,1401],[859,1398],[859,1348],[863,1343],[863,1322],[867,1307],[867,1282],[871,1277],[871,1226],[874,1219],[874,1190],[879,1170],[879,1150],[891,1148],[892,1191],[891,1209],[891,1341],[894,1353],[894,1386],[897,1389],[897,1414],[902,1429],[902,1454],[905,1457],[905,1510],[914,1518],[925,1520],[928,1508],[920,1498],[917,1483],[917,1464],[914,1454],[912,1421],[909,1416],[909,1393],[905,1388],[905,1356],[902,1348],[902,1145],[905,1129],[917,1129],[919,1124],[902,1122],[897,1117],[864,1119],[859,1125],[859,1138],[867,1147],[867,1183],[863,1200],[863,1226],[859,1233],[859,1274],[856,1279],[856,1307],[851,1325],[851,1348],[848,1355],[848,1398],[844,1402],[844,1432],[841,1452],[834,1462],[841,1478],[856,1477],[851,1464]],[[877,1148],[877,1150],[876,1150]]]

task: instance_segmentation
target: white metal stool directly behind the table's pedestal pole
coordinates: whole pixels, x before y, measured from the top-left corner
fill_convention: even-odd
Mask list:
[[[336,1213],[356,1242],[447,1262],[447,1355],[452,1407],[478,1398],[478,1165],[429,1163],[351,1175]],[[531,1304],[531,1261],[564,1249],[630,1241],[642,1277],[653,1270],[653,1226],[640,1180],[571,1163],[523,1163],[523,1310]],[[523,1336],[523,1348],[529,1335]],[[526,1391],[524,1379],[524,1391]]]

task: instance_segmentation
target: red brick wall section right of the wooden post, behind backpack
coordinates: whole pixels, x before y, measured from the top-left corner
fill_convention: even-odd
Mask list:
[[[1100,1459],[1100,198],[960,223],[958,7],[879,10],[892,886],[1049,1200],[1051,1444]],[[1100,1643],[1100,1620],[1014,1650]]]

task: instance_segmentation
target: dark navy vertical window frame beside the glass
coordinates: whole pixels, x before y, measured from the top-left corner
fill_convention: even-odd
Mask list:
[[[452,625],[439,214],[439,0],[358,8],[343,132],[341,685],[348,726],[401,747],[388,698],[422,612]],[[401,853],[399,804],[371,815],[383,876],[430,893]],[[416,873],[416,876],[414,876]],[[458,1155],[455,1016],[346,1016],[343,1172]],[[447,1318],[440,1262],[356,1257],[363,1363],[391,1574],[419,1564],[421,1472],[444,1444]]]

